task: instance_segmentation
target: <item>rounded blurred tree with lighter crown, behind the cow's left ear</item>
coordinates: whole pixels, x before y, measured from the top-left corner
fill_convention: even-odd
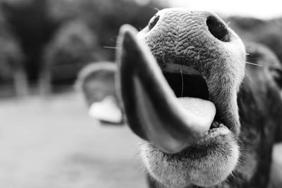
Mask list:
[[[45,50],[47,67],[42,68],[42,82],[47,84],[51,79],[54,84],[73,83],[83,65],[100,59],[94,32],[83,20],[71,20],[61,26]]]

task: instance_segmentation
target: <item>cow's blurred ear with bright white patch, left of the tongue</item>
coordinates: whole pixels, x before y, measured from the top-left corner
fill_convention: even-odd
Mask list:
[[[116,65],[110,62],[91,63],[78,75],[77,89],[89,107],[90,117],[101,123],[123,123],[115,87]]]

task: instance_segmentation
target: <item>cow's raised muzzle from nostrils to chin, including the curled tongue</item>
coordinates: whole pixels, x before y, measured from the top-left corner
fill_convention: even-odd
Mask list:
[[[145,138],[140,143],[140,156],[149,182],[157,184],[155,187],[232,187],[226,179],[240,164],[237,96],[245,75],[245,46],[240,38],[214,13],[190,8],[161,10],[137,38],[128,25],[121,28],[118,38],[121,101],[130,128]],[[197,76],[192,77],[194,73]],[[200,139],[195,137],[188,145],[182,130],[193,133],[197,126],[182,121],[188,117],[184,113],[178,117],[177,110],[182,108],[174,101],[176,90],[167,75],[184,75],[179,82],[186,90],[202,83],[192,82],[200,77],[207,88],[200,92],[208,90],[204,100],[215,106],[207,132],[203,135],[200,131]],[[200,98],[190,95],[178,96],[194,102]],[[194,134],[187,137],[190,135]],[[179,151],[173,150],[175,145],[180,146]],[[242,173],[251,174],[248,170]]]

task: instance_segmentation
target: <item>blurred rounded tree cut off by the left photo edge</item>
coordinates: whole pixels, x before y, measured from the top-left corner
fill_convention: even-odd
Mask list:
[[[13,87],[11,87],[13,85]],[[0,96],[27,95],[27,77],[23,66],[23,54],[18,41],[9,30],[0,13]]]

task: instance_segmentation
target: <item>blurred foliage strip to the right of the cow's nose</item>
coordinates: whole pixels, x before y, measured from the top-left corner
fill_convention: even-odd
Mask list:
[[[269,46],[282,62],[282,18],[260,20],[257,18],[230,17],[229,26],[245,42],[260,42]]]

